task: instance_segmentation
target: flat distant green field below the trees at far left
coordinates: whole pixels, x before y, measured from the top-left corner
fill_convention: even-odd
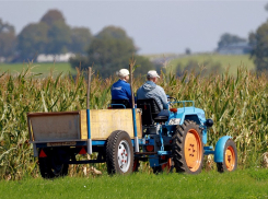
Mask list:
[[[9,71],[12,74],[20,73],[22,70],[26,69],[28,63],[0,63],[0,72]],[[75,70],[71,68],[71,65],[68,62],[59,63],[31,63],[33,73],[42,73],[43,75],[48,75],[51,71],[54,74],[63,72],[75,74]]]

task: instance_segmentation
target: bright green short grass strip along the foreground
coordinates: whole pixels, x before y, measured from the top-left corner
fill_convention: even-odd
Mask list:
[[[199,175],[137,173],[128,176],[26,178],[0,182],[4,198],[267,198],[268,171]],[[259,177],[261,176],[261,177]]]

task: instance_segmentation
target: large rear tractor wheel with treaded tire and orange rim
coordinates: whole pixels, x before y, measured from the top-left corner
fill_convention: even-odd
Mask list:
[[[199,126],[185,120],[172,138],[172,154],[177,173],[199,174],[203,163],[203,143]]]

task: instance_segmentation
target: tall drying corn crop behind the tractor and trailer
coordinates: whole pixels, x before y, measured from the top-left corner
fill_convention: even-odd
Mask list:
[[[86,108],[86,72],[78,75],[38,78],[27,70],[18,75],[0,74],[0,179],[38,176],[37,159],[28,143],[26,114],[30,112],[66,112]],[[101,79],[93,74],[91,108],[106,108],[110,103],[110,86],[116,77]],[[145,81],[135,79],[133,89]],[[161,73],[159,84],[166,94],[179,101],[195,101],[205,109],[214,126],[208,133],[208,145],[222,136],[232,136],[238,151],[238,167],[264,166],[268,147],[268,80],[238,69],[234,78],[224,74],[207,77],[185,73],[177,78]],[[75,172],[74,172],[75,173]],[[75,175],[75,174],[74,174]]]

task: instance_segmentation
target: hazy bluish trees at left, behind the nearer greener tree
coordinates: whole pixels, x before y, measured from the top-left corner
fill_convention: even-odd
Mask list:
[[[33,60],[38,54],[83,54],[92,38],[89,28],[70,27],[58,10],[49,10],[38,23],[26,25],[18,36],[12,25],[0,20],[0,57],[8,61]]]

